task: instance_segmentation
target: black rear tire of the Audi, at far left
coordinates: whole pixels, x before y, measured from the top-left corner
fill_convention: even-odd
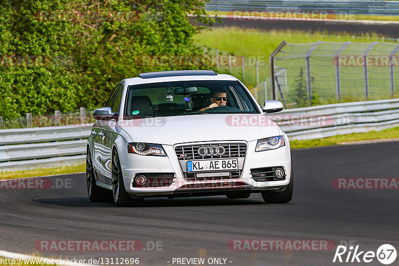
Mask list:
[[[96,184],[93,162],[91,160],[89,148],[87,148],[86,153],[86,187],[87,196],[89,196],[91,202],[104,202],[110,200],[110,192],[100,188]]]

